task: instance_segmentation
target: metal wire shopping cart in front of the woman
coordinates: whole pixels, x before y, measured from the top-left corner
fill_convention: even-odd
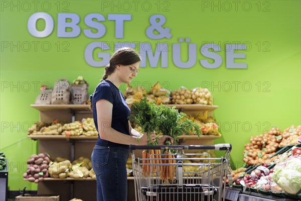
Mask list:
[[[147,158],[142,159],[136,158],[133,150],[162,150],[162,153],[150,152]],[[172,150],[173,153],[167,153],[164,150]],[[185,153],[186,150],[224,150],[225,157],[212,158],[209,151]],[[231,144],[130,145],[130,151],[136,201],[219,201],[224,199],[223,189],[225,189],[226,182],[223,184],[223,179],[229,173]],[[158,162],[159,160],[161,161]],[[187,163],[188,160],[189,163]]]

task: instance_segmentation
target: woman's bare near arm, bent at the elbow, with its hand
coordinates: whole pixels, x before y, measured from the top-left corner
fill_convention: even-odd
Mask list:
[[[147,135],[136,137],[122,134],[111,127],[113,105],[106,99],[100,99],[96,102],[98,133],[101,139],[110,142],[126,145],[146,145]],[[150,135],[150,141],[155,142],[155,133]]]

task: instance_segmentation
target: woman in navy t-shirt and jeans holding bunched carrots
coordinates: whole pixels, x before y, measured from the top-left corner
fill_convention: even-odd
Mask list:
[[[99,133],[91,155],[96,173],[97,200],[126,200],[126,160],[129,145],[146,145],[147,135],[131,128],[128,121],[130,109],[118,89],[121,83],[130,83],[139,72],[140,56],[130,48],[117,50],[105,67],[102,81],[97,85],[91,98],[93,119]],[[136,138],[139,138],[139,142]],[[150,133],[150,143],[155,141]],[[164,145],[167,138],[160,139]]]

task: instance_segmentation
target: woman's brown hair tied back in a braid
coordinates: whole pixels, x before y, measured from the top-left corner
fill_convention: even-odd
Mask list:
[[[116,66],[121,65],[130,65],[133,63],[136,63],[138,61],[141,61],[141,57],[139,54],[128,47],[120,48],[114,52],[114,54],[111,56],[109,64],[105,66],[104,68],[104,74],[102,76],[102,80],[105,80],[108,78],[110,74],[112,74]],[[92,111],[92,95],[90,95],[90,110]]]

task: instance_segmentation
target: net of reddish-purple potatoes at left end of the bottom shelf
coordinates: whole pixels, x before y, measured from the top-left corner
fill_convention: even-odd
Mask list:
[[[43,178],[48,177],[48,167],[51,158],[47,153],[33,154],[27,160],[27,170],[23,177],[30,182],[39,183]]]

